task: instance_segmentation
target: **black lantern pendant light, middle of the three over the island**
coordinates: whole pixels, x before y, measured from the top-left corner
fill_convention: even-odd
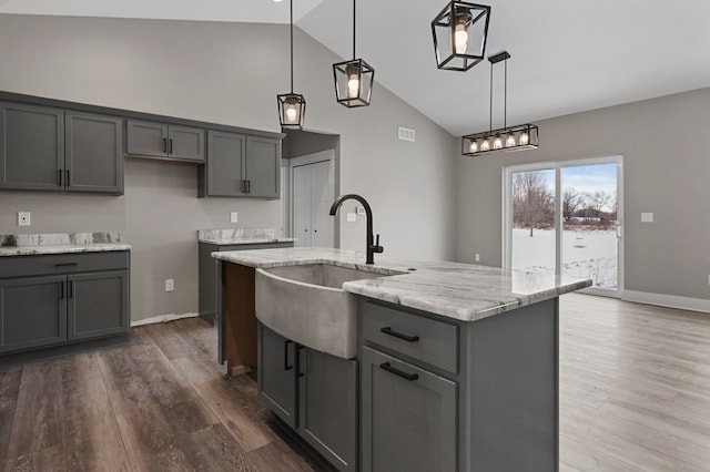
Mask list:
[[[353,60],[333,64],[335,98],[347,106],[369,105],[375,70],[362,59],[355,59],[355,0],[353,0]]]

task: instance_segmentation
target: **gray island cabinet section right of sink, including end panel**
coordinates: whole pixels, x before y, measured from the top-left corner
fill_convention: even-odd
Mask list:
[[[558,470],[556,299],[469,322],[358,307],[363,471]]]

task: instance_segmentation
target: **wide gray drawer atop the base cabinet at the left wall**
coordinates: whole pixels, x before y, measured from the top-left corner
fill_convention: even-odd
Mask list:
[[[129,253],[126,250],[6,256],[2,257],[2,264],[0,264],[0,278],[128,268]]]

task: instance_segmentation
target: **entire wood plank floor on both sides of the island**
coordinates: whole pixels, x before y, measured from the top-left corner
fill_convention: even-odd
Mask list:
[[[710,471],[710,315],[566,295],[560,470]],[[6,471],[321,471],[200,319],[0,368]]]

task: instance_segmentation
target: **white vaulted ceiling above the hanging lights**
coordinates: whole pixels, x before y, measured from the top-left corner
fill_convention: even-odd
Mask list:
[[[489,0],[487,55],[507,50],[508,124],[710,86],[710,1]],[[359,0],[357,57],[378,83],[460,135],[488,127],[489,63],[436,68],[432,19],[444,0]],[[297,27],[352,55],[351,0],[294,0]],[[0,13],[288,22],[288,0],[0,0]],[[503,124],[503,74],[494,80]],[[373,92],[377,100],[377,89]],[[709,112],[710,113],[710,112]]]

